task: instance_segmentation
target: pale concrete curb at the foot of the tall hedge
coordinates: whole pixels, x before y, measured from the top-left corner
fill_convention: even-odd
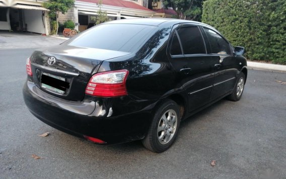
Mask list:
[[[286,65],[275,65],[268,63],[258,63],[247,61],[247,68],[255,70],[286,72]]]

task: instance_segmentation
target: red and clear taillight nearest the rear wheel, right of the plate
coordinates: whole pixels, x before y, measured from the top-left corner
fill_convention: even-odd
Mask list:
[[[93,75],[86,87],[86,94],[99,97],[127,95],[128,70],[102,72]]]

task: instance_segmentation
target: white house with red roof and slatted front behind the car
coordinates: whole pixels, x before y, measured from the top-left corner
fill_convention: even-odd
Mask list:
[[[148,1],[145,0],[103,0],[101,6],[98,3],[98,0],[77,0],[73,8],[59,15],[59,22],[72,20],[76,24],[75,29],[82,32],[95,23],[91,17],[96,17],[99,9],[106,12],[110,20],[151,18],[155,14],[144,7],[148,7]]]

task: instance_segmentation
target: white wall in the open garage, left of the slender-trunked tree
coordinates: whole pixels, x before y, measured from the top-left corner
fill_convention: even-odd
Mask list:
[[[45,20],[45,17],[43,17]],[[23,10],[24,25],[27,24],[28,32],[46,34],[42,20],[42,11],[40,10]]]

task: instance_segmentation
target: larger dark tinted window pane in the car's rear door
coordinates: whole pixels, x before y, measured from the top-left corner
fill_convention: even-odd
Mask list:
[[[177,32],[185,55],[206,53],[204,42],[197,26],[179,28]]]

